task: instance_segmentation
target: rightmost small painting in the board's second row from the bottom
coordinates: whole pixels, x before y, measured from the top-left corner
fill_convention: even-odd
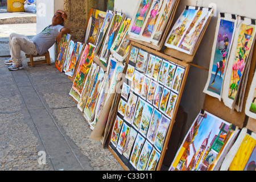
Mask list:
[[[168,130],[168,127],[170,125],[170,119],[167,118],[165,115],[162,115],[162,118],[160,120],[158,130],[156,132],[156,139],[154,142],[154,145],[157,150],[162,152],[164,140],[166,139],[166,133]]]

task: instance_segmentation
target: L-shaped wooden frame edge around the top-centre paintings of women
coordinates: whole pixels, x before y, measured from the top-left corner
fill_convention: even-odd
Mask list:
[[[150,47],[150,48],[155,49],[155,50],[157,50],[157,51],[160,51],[160,49],[162,49],[163,44],[164,44],[164,41],[166,40],[166,37],[167,37],[167,35],[168,35],[168,30],[170,30],[170,28],[171,28],[172,21],[174,20],[174,16],[175,16],[177,7],[178,7],[178,5],[179,5],[179,2],[180,2],[180,0],[177,0],[177,1],[175,2],[174,8],[173,8],[173,10],[172,10],[171,15],[170,15],[169,18],[168,18],[168,21],[167,21],[167,23],[166,23],[166,27],[165,27],[164,30],[163,30],[163,34],[162,34],[162,37],[161,37],[160,40],[159,40],[158,45],[152,44],[152,43],[148,43],[148,42],[144,42],[144,41],[142,41],[142,40],[135,39],[135,38],[133,38],[132,36],[127,35],[127,36],[129,37],[129,39],[130,39],[131,41],[133,41],[133,42],[137,42],[137,43],[142,44],[142,45],[144,45],[144,46],[147,46],[147,47]]]

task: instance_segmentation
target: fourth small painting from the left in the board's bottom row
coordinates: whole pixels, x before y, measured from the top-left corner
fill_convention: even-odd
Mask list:
[[[141,155],[141,150],[142,150],[144,141],[145,139],[140,134],[138,134],[134,142],[133,151],[131,152],[131,157],[130,157],[130,163],[133,165],[135,169],[137,168],[137,165],[139,162],[139,156]]]

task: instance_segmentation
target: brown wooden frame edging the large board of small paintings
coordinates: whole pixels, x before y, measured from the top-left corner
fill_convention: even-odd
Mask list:
[[[150,53],[151,55],[155,55],[156,57],[160,57],[163,60],[166,60],[168,63],[174,63],[177,66],[177,68],[178,67],[179,68],[184,68],[183,78],[182,78],[182,81],[181,81],[181,84],[180,84],[180,90],[179,90],[179,93],[177,94],[177,100],[176,100],[176,104],[174,106],[174,113],[173,113],[172,117],[169,118],[170,119],[170,125],[168,126],[168,129],[167,129],[167,132],[166,132],[166,138],[163,142],[162,151],[160,151],[160,158],[159,158],[158,164],[155,168],[156,171],[160,171],[160,169],[162,167],[164,155],[165,155],[166,150],[167,150],[168,142],[169,142],[169,139],[170,139],[170,136],[171,136],[172,127],[175,123],[175,117],[176,117],[176,114],[177,114],[177,110],[179,109],[179,104],[180,104],[181,96],[182,96],[183,89],[184,89],[184,86],[185,86],[185,81],[187,80],[190,65],[185,61],[180,61],[180,60],[174,59],[173,57],[170,57],[168,55],[165,55],[163,53],[155,51],[154,49],[148,48],[146,46],[142,46],[141,44],[138,44],[138,43],[135,43],[135,42],[131,42],[129,55],[130,55],[132,47],[137,47],[139,49],[142,49],[143,51],[146,51],[146,52]],[[129,58],[130,58],[130,56],[128,56],[128,58],[127,58],[125,69],[127,69],[127,67],[128,67],[127,65],[132,65],[133,64],[133,62],[131,62],[129,60]],[[136,64],[134,63],[134,65],[136,65]],[[147,67],[147,65],[146,65],[146,67]],[[126,70],[124,72],[126,73]],[[130,80],[128,80],[127,78],[125,78],[123,81],[126,82],[127,85],[130,82]],[[131,91],[130,91],[130,93],[131,93]],[[137,93],[134,92],[134,90],[132,91],[132,93],[137,94]],[[131,94],[130,94],[130,96],[131,96]],[[137,94],[137,96],[138,96],[138,98],[142,98],[142,97],[140,97],[139,94]],[[116,98],[117,98],[117,100],[115,102],[115,108],[113,109],[113,111],[115,111],[115,112],[112,112],[113,113],[112,114],[112,121],[108,121],[108,122],[111,122],[110,125],[112,127],[111,127],[111,130],[110,130],[110,133],[108,134],[108,139],[106,141],[106,146],[126,171],[129,171],[129,170],[134,171],[134,170],[136,170],[136,168],[130,163],[130,157],[129,157],[129,159],[125,158],[125,156],[123,156],[120,152],[117,151],[117,148],[115,148],[115,146],[112,143],[112,133],[113,133],[115,119],[117,118],[117,116],[122,117],[122,115],[117,112],[119,101],[120,101],[120,98],[121,98],[121,93],[117,93]],[[152,106],[152,107],[154,107],[154,106]],[[155,108],[155,110],[157,110],[157,107],[154,107],[154,108]],[[134,110],[134,114],[135,114],[135,110]],[[113,117],[113,115],[115,117]],[[165,117],[167,116],[166,113],[162,113],[162,117],[163,117],[163,115]],[[125,117],[123,117],[123,122],[125,122],[126,124],[128,123],[128,122],[125,121]],[[179,122],[179,121],[177,121],[177,122]],[[129,123],[127,125],[129,125]],[[131,124],[129,126],[134,127]],[[134,129],[135,129],[135,127],[134,127]],[[137,130],[137,132],[138,132],[138,134],[140,133],[139,130]],[[146,141],[147,137],[145,137],[144,139]],[[154,144],[152,144],[152,146],[153,146],[153,148],[155,147]],[[130,156],[131,156],[132,152],[133,151],[131,150]]]

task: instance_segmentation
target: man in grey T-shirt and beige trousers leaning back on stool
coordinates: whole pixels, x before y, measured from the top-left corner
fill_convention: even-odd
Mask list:
[[[12,64],[9,69],[15,71],[23,68],[20,51],[28,55],[43,55],[53,46],[55,41],[59,43],[62,35],[70,32],[68,28],[61,25],[65,19],[67,19],[67,14],[64,11],[57,10],[52,18],[52,24],[44,28],[42,32],[32,39],[20,34],[10,34],[9,48],[11,58],[5,61],[5,64]]]

